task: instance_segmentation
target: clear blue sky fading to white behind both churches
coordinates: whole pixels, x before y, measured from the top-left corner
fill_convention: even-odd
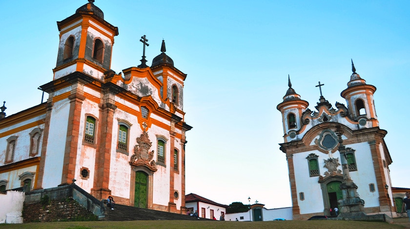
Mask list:
[[[41,102],[38,86],[53,78],[59,44],[56,21],[86,0],[0,0],[0,100],[7,115]],[[186,193],[221,204],[290,207],[281,114],[292,88],[309,102],[322,92],[334,106],[357,73],[377,87],[380,128],[393,163],[393,187],[408,187],[410,1],[96,0],[119,28],[111,68],[147,64],[161,41],[184,84]],[[46,100],[48,95],[45,95]],[[406,169],[407,168],[407,169]],[[358,192],[363,190],[359,187]]]

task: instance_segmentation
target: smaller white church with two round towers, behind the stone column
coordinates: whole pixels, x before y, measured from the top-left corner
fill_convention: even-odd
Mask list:
[[[293,219],[330,215],[330,208],[341,209],[346,173],[355,187],[347,195],[360,200],[363,212],[390,216],[390,208],[395,211],[392,161],[384,141],[387,131],[379,128],[374,106],[376,87],[356,73],[353,61],[352,72],[348,87],[340,94],[346,105],[336,102],[333,108],[321,92],[316,110],[311,111],[292,88],[290,78],[283,102],[277,105],[282,113],[284,143],[280,149],[287,158]],[[346,147],[343,155],[339,152],[342,142]]]

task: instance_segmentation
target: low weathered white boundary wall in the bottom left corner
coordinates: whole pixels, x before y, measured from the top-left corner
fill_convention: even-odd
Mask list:
[[[21,191],[7,191],[7,194],[0,194],[0,223],[23,223],[21,211],[24,199],[25,193]]]

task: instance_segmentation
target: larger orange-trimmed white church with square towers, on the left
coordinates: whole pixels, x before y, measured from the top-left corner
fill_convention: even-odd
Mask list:
[[[40,86],[47,101],[9,116],[1,107],[0,191],[75,182],[97,199],[182,213],[186,74],[164,40],[151,66],[143,53],[138,67],[111,70],[118,27],[88,1],[57,22],[54,76]]]

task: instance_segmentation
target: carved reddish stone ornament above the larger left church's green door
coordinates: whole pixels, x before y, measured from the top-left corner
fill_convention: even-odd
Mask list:
[[[137,137],[137,145],[134,147],[134,154],[131,156],[129,162],[134,166],[145,166],[151,171],[157,171],[157,164],[155,163],[154,151],[149,151],[152,146],[152,142],[149,141],[148,134],[144,131],[140,137]]]

